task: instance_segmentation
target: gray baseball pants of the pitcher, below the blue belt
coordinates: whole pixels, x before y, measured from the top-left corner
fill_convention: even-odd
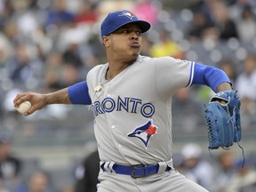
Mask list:
[[[174,169],[136,179],[100,170],[99,180],[98,192],[208,192]]]

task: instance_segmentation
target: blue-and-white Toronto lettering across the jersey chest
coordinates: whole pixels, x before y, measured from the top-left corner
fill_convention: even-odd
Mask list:
[[[122,99],[120,96],[117,100],[112,98],[105,98],[104,100],[96,100],[93,103],[93,110],[95,116],[111,113],[112,111],[127,111],[127,113],[140,113],[142,116],[151,117],[155,113],[155,107],[152,103],[143,103],[142,100],[136,98],[124,97]]]

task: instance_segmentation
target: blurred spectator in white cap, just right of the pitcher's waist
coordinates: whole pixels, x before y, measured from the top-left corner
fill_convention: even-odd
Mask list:
[[[210,163],[203,160],[200,146],[188,143],[181,148],[181,155],[184,158],[185,176],[209,190],[213,182],[213,168]]]

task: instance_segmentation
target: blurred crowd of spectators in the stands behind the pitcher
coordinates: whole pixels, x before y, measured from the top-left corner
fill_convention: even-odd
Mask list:
[[[181,2],[0,0],[0,131],[15,131],[13,121],[17,114],[12,98],[16,93],[59,90],[84,80],[93,66],[107,62],[100,42],[100,22],[108,12],[124,9],[152,24],[150,31],[143,35],[142,55],[172,56],[223,69],[242,100],[243,129],[252,131],[256,124],[256,1],[191,0],[182,3],[181,8],[175,4]],[[203,113],[202,101],[207,103],[212,93],[206,87],[196,86],[177,92],[172,106],[173,129],[196,132],[198,124],[205,127],[203,114],[199,111]],[[57,115],[52,113],[52,116]],[[21,163],[8,157],[12,165],[2,165],[6,159],[2,157],[4,143],[8,142],[0,141],[1,192],[60,191],[60,188],[47,187],[51,182],[47,173],[40,169],[26,175],[22,185],[20,182],[13,185]],[[201,155],[198,148],[195,153],[197,156],[191,156]],[[218,158],[218,169],[207,171],[211,167],[209,162],[202,165],[206,168],[197,168],[197,161],[185,161],[186,158],[177,158],[180,159],[180,172],[213,192],[256,190],[255,161],[254,165],[249,161],[241,168],[241,162],[225,152]],[[214,175],[216,172],[218,174]],[[207,180],[208,176],[215,182]],[[10,180],[12,185],[8,185]],[[228,185],[230,188],[226,188],[228,182],[233,183]],[[208,186],[209,183],[214,186]],[[19,186],[19,189],[10,189],[10,186]],[[65,188],[66,192],[73,190]]]

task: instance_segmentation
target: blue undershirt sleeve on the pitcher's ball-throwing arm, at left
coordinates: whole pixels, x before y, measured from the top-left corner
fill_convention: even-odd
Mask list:
[[[89,95],[86,81],[73,84],[68,87],[68,97],[72,104],[91,105],[92,100]]]

